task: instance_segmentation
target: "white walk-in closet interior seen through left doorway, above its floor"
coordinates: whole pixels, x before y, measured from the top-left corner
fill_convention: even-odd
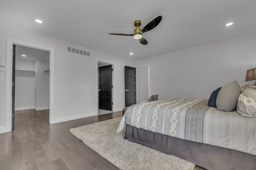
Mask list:
[[[14,45],[12,110],[50,109],[50,51]],[[14,55],[13,54],[13,55]],[[13,125],[12,125],[12,128]]]

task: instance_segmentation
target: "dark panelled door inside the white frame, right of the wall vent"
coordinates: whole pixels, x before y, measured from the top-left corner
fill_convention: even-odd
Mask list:
[[[112,111],[112,65],[99,67],[99,109]]]

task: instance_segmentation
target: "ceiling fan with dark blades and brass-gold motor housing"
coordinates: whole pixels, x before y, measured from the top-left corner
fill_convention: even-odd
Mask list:
[[[149,22],[143,29],[139,28],[139,26],[141,25],[140,20],[134,21],[134,26],[137,27],[134,30],[134,34],[116,34],[116,33],[108,33],[108,34],[118,35],[118,36],[133,36],[134,39],[140,40],[140,43],[142,43],[143,45],[146,45],[146,44],[148,44],[148,42],[145,38],[142,38],[142,34],[144,32],[150,31],[153,28],[155,28],[160,23],[161,20],[162,20],[162,16],[158,16],[154,20]]]

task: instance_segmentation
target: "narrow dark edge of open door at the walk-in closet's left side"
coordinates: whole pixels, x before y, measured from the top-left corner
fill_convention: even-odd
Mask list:
[[[12,47],[12,129],[14,129],[15,109],[15,45]]]

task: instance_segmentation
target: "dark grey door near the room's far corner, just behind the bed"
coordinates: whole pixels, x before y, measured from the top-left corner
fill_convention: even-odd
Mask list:
[[[136,68],[125,66],[125,107],[137,103],[136,101]]]

